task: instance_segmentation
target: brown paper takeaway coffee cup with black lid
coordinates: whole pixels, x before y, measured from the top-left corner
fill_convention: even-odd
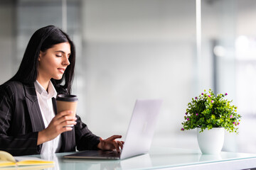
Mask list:
[[[76,108],[78,106],[78,97],[75,95],[59,94],[56,98],[57,113],[62,111],[73,111],[75,117]]]

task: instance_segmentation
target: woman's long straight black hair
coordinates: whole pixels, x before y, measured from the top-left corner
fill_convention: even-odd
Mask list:
[[[60,80],[51,79],[51,81],[59,94],[70,94],[75,69],[75,45],[66,33],[55,26],[46,26],[33,33],[18,72],[9,81],[21,81],[23,84],[34,83],[38,77],[37,67],[40,51],[45,52],[53,45],[61,42],[69,42],[70,44],[70,65],[65,69]],[[65,83],[62,84],[64,80]]]

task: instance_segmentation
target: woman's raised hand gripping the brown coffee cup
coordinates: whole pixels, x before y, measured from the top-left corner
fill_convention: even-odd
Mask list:
[[[38,132],[37,145],[53,140],[63,132],[73,130],[72,127],[67,126],[76,124],[75,120],[77,120],[77,118],[71,116],[72,113],[73,111],[63,111],[55,115],[53,120],[50,121],[48,127]]]

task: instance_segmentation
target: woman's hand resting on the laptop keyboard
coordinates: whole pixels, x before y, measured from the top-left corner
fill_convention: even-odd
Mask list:
[[[100,143],[97,145],[99,149],[102,150],[113,150],[116,149],[117,152],[120,152],[120,148],[123,148],[124,141],[116,140],[117,138],[121,138],[121,135],[113,135],[112,137],[103,140],[100,137]]]

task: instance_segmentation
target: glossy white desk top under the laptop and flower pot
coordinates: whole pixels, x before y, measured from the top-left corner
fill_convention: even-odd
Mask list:
[[[149,154],[124,160],[64,159],[59,153],[42,157],[55,161],[53,169],[250,169],[256,167],[256,154],[221,152],[201,154],[195,149],[152,148]],[[36,155],[33,157],[41,157]]]

